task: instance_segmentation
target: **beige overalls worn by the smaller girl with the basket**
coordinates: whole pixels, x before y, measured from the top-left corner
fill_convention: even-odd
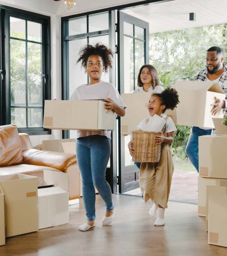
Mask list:
[[[162,132],[166,136],[166,124]],[[140,166],[139,184],[144,201],[147,202],[150,198],[153,203],[159,204],[162,208],[167,208],[172,175],[171,144],[162,143],[160,161],[157,163],[142,162]]]

